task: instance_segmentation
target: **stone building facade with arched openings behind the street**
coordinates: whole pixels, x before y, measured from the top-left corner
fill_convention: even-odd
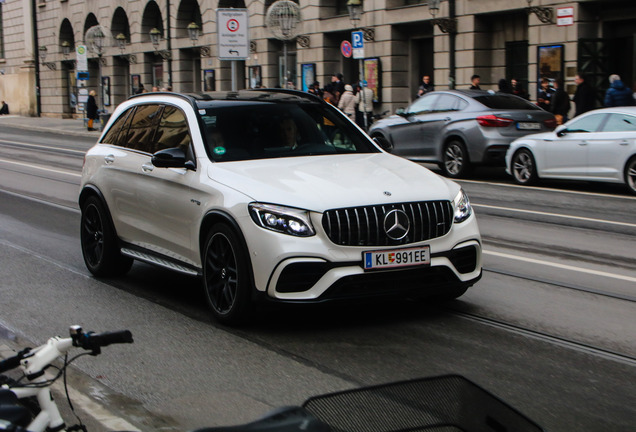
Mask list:
[[[287,38],[276,37],[268,21],[273,3],[0,0],[0,99],[12,113],[70,117],[81,115],[82,89],[95,89],[112,111],[141,85],[305,89],[313,81],[324,87],[334,73],[355,83],[362,71],[379,112],[409,104],[422,75],[437,89],[468,88],[474,74],[493,90],[514,78],[536,100],[542,77],[563,79],[573,94],[581,73],[599,106],[610,74],[636,83],[634,0],[364,0],[355,21],[347,8],[355,0],[300,0]],[[227,8],[247,9],[247,58],[219,59],[217,9]],[[96,26],[104,33],[101,50],[90,49]],[[362,59],[343,55],[352,30],[364,36]],[[80,76],[87,80],[78,80],[80,45],[89,48],[88,74]]]

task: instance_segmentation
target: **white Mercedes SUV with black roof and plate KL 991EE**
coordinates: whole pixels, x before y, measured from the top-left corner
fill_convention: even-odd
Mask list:
[[[86,154],[79,204],[94,275],[200,275],[225,323],[252,300],[451,299],[481,277],[459,185],[291,90],[131,97]]]

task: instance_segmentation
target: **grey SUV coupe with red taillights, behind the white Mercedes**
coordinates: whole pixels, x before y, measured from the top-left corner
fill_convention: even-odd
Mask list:
[[[504,166],[510,143],[556,127],[556,119],[527,100],[481,90],[434,91],[369,130],[387,151],[439,164],[445,176],[466,176],[474,165]]]

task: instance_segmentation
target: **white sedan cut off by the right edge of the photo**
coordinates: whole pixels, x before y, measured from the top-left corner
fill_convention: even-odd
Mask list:
[[[515,140],[506,172],[522,185],[539,179],[625,183],[636,194],[636,107],[589,111],[554,132]]]

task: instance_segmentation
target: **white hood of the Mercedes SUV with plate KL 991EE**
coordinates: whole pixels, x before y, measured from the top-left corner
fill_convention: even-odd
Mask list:
[[[421,165],[387,153],[215,163],[208,176],[255,201],[318,212],[452,200],[460,189]]]

